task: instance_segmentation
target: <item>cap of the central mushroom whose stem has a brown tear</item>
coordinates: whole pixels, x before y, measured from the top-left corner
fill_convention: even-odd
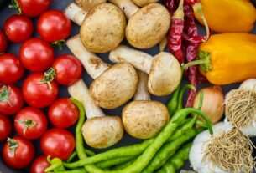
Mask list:
[[[137,89],[138,75],[131,64],[114,64],[95,79],[90,94],[95,103],[105,109],[114,109],[133,97]]]

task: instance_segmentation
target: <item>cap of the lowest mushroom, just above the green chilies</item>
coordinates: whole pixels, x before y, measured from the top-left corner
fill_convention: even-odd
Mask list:
[[[86,144],[93,148],[107,148],[123,137],[122,120],[118,116],[102,116],[86,120],[81,128]]]

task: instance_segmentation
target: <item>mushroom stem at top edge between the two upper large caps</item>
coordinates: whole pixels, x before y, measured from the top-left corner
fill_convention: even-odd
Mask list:
[[[114,3],[118,8],[122,9],[128,19],[131,18],[139,9],[131,0],[108,0],[108,2]]]

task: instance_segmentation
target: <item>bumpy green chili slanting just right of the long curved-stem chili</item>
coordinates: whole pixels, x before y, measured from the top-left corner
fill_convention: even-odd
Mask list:
[[[201,132],[201,130],[191,129],[181,135],[179,139],[163,145],[142,173],[152,173],[154,170],[159,169],[159,167],[164,165],[165,161],[168,160],[171,155],[175,154],[175,151],[178,150],[180,145],[196,136],[198,132]]]

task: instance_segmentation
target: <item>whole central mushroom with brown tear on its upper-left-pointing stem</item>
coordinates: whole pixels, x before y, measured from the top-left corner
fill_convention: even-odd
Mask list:
[[[105,109],[113,109],[133,97],[138,76],[131,64],[118,63],[111,68],[94,53],[83,47],[81,38],[75,36],[67,41],[68,48],[95,79],[90,86],[90,94],[96,104]]]

